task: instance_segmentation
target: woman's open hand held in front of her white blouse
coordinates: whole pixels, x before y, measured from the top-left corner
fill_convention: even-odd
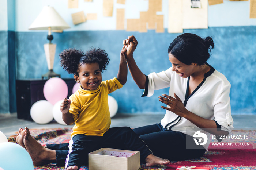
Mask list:
[[[175,97],[175,98],[174,98]],[[178,116],[184,117],[186,115],[187,109],[183,105],[180,98],[174,93],[174,97],[168,96],[167,94],[163,94],[163,96],[159,96],[159,101],[166,104],[169,107],[161,106],[163,109],[171,111]]]

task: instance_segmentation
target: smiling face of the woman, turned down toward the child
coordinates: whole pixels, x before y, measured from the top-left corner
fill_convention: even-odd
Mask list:
[[[186,65],[180,62],[176,57],[174,57],[171,53],[169,55],[169,60],[172,63],[172,71],[176,72],[180,77],[187,78],[191,76],[196,70],[195,65],[192,63],[191,65]]]

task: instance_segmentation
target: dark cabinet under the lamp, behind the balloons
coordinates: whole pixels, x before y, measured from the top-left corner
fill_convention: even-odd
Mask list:
[[[68,97],[72,94],[76,81],[74,78],[63,80],[68,85]],[[31,106],[39,101],[46,100],[44,97],[44,84],[47,80],[16,80],[16,104],[18,119],[33,121],[30,116]]]

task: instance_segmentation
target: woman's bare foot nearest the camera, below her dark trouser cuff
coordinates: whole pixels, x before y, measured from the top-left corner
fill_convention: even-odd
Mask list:
[[[55,150],[50,150],[43,147],[40,143],[35,140],[29,133],[29,128],[25,127],[25,135],[23,142],[30,157],[32,158],[34,166],[45,165],[48,163],[56,162]]]

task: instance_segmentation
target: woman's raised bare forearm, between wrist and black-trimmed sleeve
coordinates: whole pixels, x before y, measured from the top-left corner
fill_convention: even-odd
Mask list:
[[[133,80],[140,89],[145,88],[146,76],[140,71],[133,57],[127,57],[127,64]]]

